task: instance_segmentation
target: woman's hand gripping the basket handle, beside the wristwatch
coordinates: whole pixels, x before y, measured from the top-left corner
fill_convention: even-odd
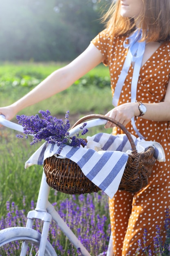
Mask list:
[[[126,124],[130,122],[132,117],[139,116],[139,115],[140,115],[140,111],[139,111],[137,102],[124,103],[120,106],[113,108],[106,114],[107,117],[111,117],[117,120],[119,123],[123,124],[124,126],[126,126]],[[107,124],[105,125],[105,128],[111,128],[115,126],[116,126],[115,124],[108,121]]]

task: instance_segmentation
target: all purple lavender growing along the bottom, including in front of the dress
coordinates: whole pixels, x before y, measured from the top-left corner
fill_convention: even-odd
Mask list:
[[[59,193],[55,191],[55,195]],[[25,197],[22,200],[22,209],[19,209],[14,202],[7,202],[6,216],[0,219],[0,230],[7,227],[21,227],[26,225]],[[71,228],[81,243],[86,247],[92,256],[103,253],[106,256],[110,237],[110,222],[108,211],[108,198],[103,192],[86,195],[68,195],[68,198],[53,203],[63,220]],[[35,202],[31,201],[30,210],[35,209]],[[146,247],[147,229],[144,229],[143,240],[138,240],[138,249],[133,256],[169,256],[170,255],[170,218],[169,211],[166,213],[165,227],[167,231],[166,243],[162,243],[160,229],[157,226],[153,238],[154,251]],[[42,232],[42,222],[35,220],[34,229]],[[55,222],[51,222],[48,240],[53,245],[58,256],[81,256],[79,249],[75,249],[68,238],[64,236]],[[10,256],[11,251],[15,256],[19,255],[18,244],[8,245],[1,250],[0,256]],[[32,254],[31,254],[32,255]],[[34,255],[34,254],[33,254]],[[132,256],[129,252],[128,256]]]

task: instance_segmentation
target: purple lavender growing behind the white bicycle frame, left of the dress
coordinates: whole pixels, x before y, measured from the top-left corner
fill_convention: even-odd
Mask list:
[[[66,200],[55,202],[53,205],[91,255],[106,252],[110,237],[110,223],[108,198],[104,193],[70,195]],[[18,209],[14,202],[11,204],[7,202],[7,214],[0,220],[0,229],[25,226],[26,211],[24,207],[25,198],[23,198],[23,209]],[[35,203],[31,201],[30,209],[34,209],[34,207]],[[36,220],[34,228],[41,232],[42,223]],[[54,222],[50,225],[49,241],[58,256],[81,255]],[[11,255],[7,253],[10,249],[6,248],[6,252],[0,251],[0,256]],[[17,248],[15,248],[15,255],[17,255]]]

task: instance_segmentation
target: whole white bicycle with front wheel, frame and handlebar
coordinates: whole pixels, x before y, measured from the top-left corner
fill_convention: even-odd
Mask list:
[[[106,124],[106,122],[107,121],[104,119],[93,119],[87,121],[86,128],[103,125]],[[0,115],[0,124],[13,130],[23,132],[22,126],[15,124],[11,121],[7,121],[6,119],[4,119],[3,115]],[[70,130],[71,136],[78,132],[79,126],[80,125],[77,125],[75,128]],[[29,213],[27,214],[26,227],[10,227],[7,229],[2,229],[0,231],[0,256],[57,256],[57,253],[55,252],[53,246],[47,240],[49,234],[49,226],[52,219],[54,220],[56,225],[60,227],[60,229],[71,241],[71,243],[77,249],[80,248],[82,256],[91,256],[86,248],[82,245],[82,243],[80,243],[75,234],[71,231],[71,229],[66,225],[66,223],[60,217],[57,211],[55,211],[52,204],[48,201],[49,191],[50,187],[46,183],[46,176],[43,171],[37,205],[35,210],[29,211]],[[35,219],[42,220],[43,222],[42,234],[33,229],[33,221]],[[7,251],[9,245],[11,248],[10,252]],[[19,252],[19,254],[16,254],[16,251]],[[107,256],[112,255],[112,238],[110,236]]]

